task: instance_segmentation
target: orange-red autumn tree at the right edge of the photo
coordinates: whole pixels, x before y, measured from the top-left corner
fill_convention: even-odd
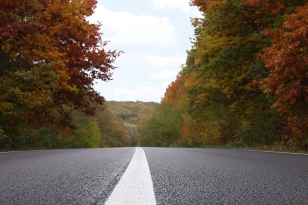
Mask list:
[[[277,100],[272,108],[281,114],[285,140],[308,146],[308,6],[285,15],[281,29],[264,31],[273,38],[271,46],[260,56],[270,74],[260,81],[268,96]]]

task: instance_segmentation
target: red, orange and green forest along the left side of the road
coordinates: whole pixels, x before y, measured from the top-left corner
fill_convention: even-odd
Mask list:
[[[97,1],[0,0],[0,150],[124,147],[131,137],[94,80],[123,52],[105,50]]]

